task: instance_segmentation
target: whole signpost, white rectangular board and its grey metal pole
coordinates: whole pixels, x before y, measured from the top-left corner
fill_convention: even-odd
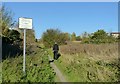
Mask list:
[[[25,73],[26,29],[32,29],[32,19],[31,18],[19,18],[19,28],[24,29],[23,72]]]

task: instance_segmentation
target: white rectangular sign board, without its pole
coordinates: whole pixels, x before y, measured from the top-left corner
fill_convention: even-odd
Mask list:
[[[32,19],[31,18],[19,18],[19,28],[32,29]]]

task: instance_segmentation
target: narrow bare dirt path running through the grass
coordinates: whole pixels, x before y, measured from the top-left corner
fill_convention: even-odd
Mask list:
[[[53,59],[49,57],[49,60],[52,61]],[[67,82],[64,78],[64,76],[62,75],[61,71],[57,68],[57,66],[54,64],[54,62],[50,62],[51,67],[54,69],[54,71],[56,72],[57,77],[59,78],[60,82]]]

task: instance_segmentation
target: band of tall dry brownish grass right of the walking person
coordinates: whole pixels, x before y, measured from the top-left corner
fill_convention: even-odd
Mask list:
[[[62,54],[84,53],[95,60],[112,61],[118,59],[118,44],[78,44],[72,43],[60,47]]]

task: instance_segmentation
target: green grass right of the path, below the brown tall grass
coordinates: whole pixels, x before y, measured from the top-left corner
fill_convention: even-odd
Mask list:
[[[66,55],[69,57],[69,55]],[[77,55],[74,55],[76,57]],[[114,62],[106,63],[87,58],[85,55],[69,61],[58,59],[56,65],[70,82],[116,82],[118,81],[118,66]]]

